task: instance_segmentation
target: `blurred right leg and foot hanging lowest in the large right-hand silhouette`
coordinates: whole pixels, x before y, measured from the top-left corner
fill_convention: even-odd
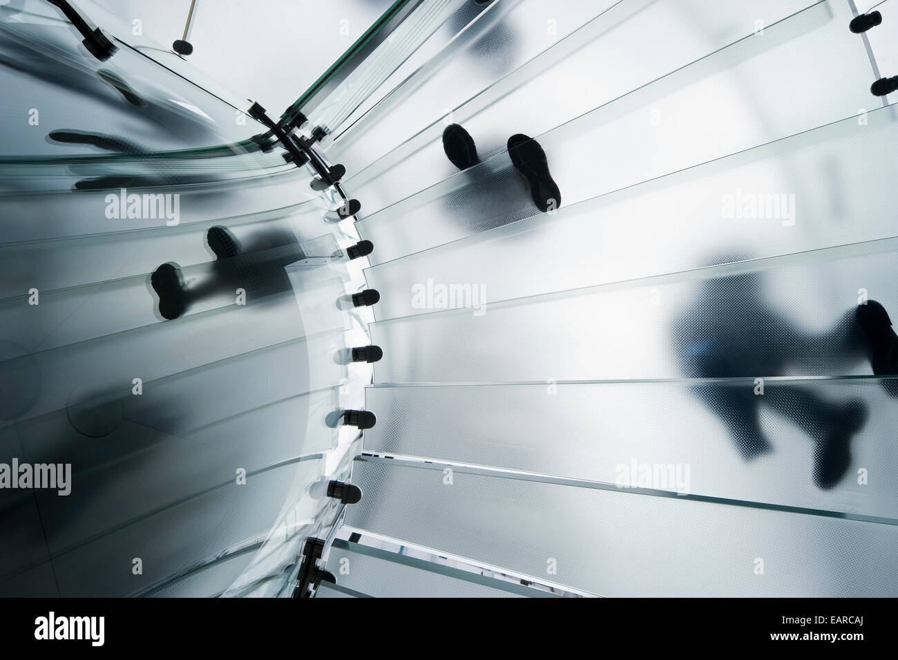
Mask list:
[[[832,488],[851,464],[851,438],[867,422],[867,405],[858,399],[841,404],[823,400],[806,387],[769,386],[763,400],[814,439],[814,483]]]

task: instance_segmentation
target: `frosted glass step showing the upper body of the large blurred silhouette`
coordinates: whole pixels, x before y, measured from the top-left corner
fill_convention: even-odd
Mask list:
[[[896,313],[895,250],[898,239],[884,239],[378,321],[374,374],[378,383],[871,374],[856,308],[867,296]]]

